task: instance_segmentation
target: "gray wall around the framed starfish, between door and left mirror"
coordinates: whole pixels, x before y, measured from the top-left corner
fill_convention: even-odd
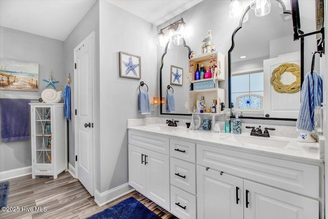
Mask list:
[[[140,81],[156,95],[156,27],[106,1],[100,1],[100,127],[95,145],[96,188],[104,192],[128,182],[128,118],[140,115],[137,91]],[[119,77],[119,51],[141,56],[141,80]]]

